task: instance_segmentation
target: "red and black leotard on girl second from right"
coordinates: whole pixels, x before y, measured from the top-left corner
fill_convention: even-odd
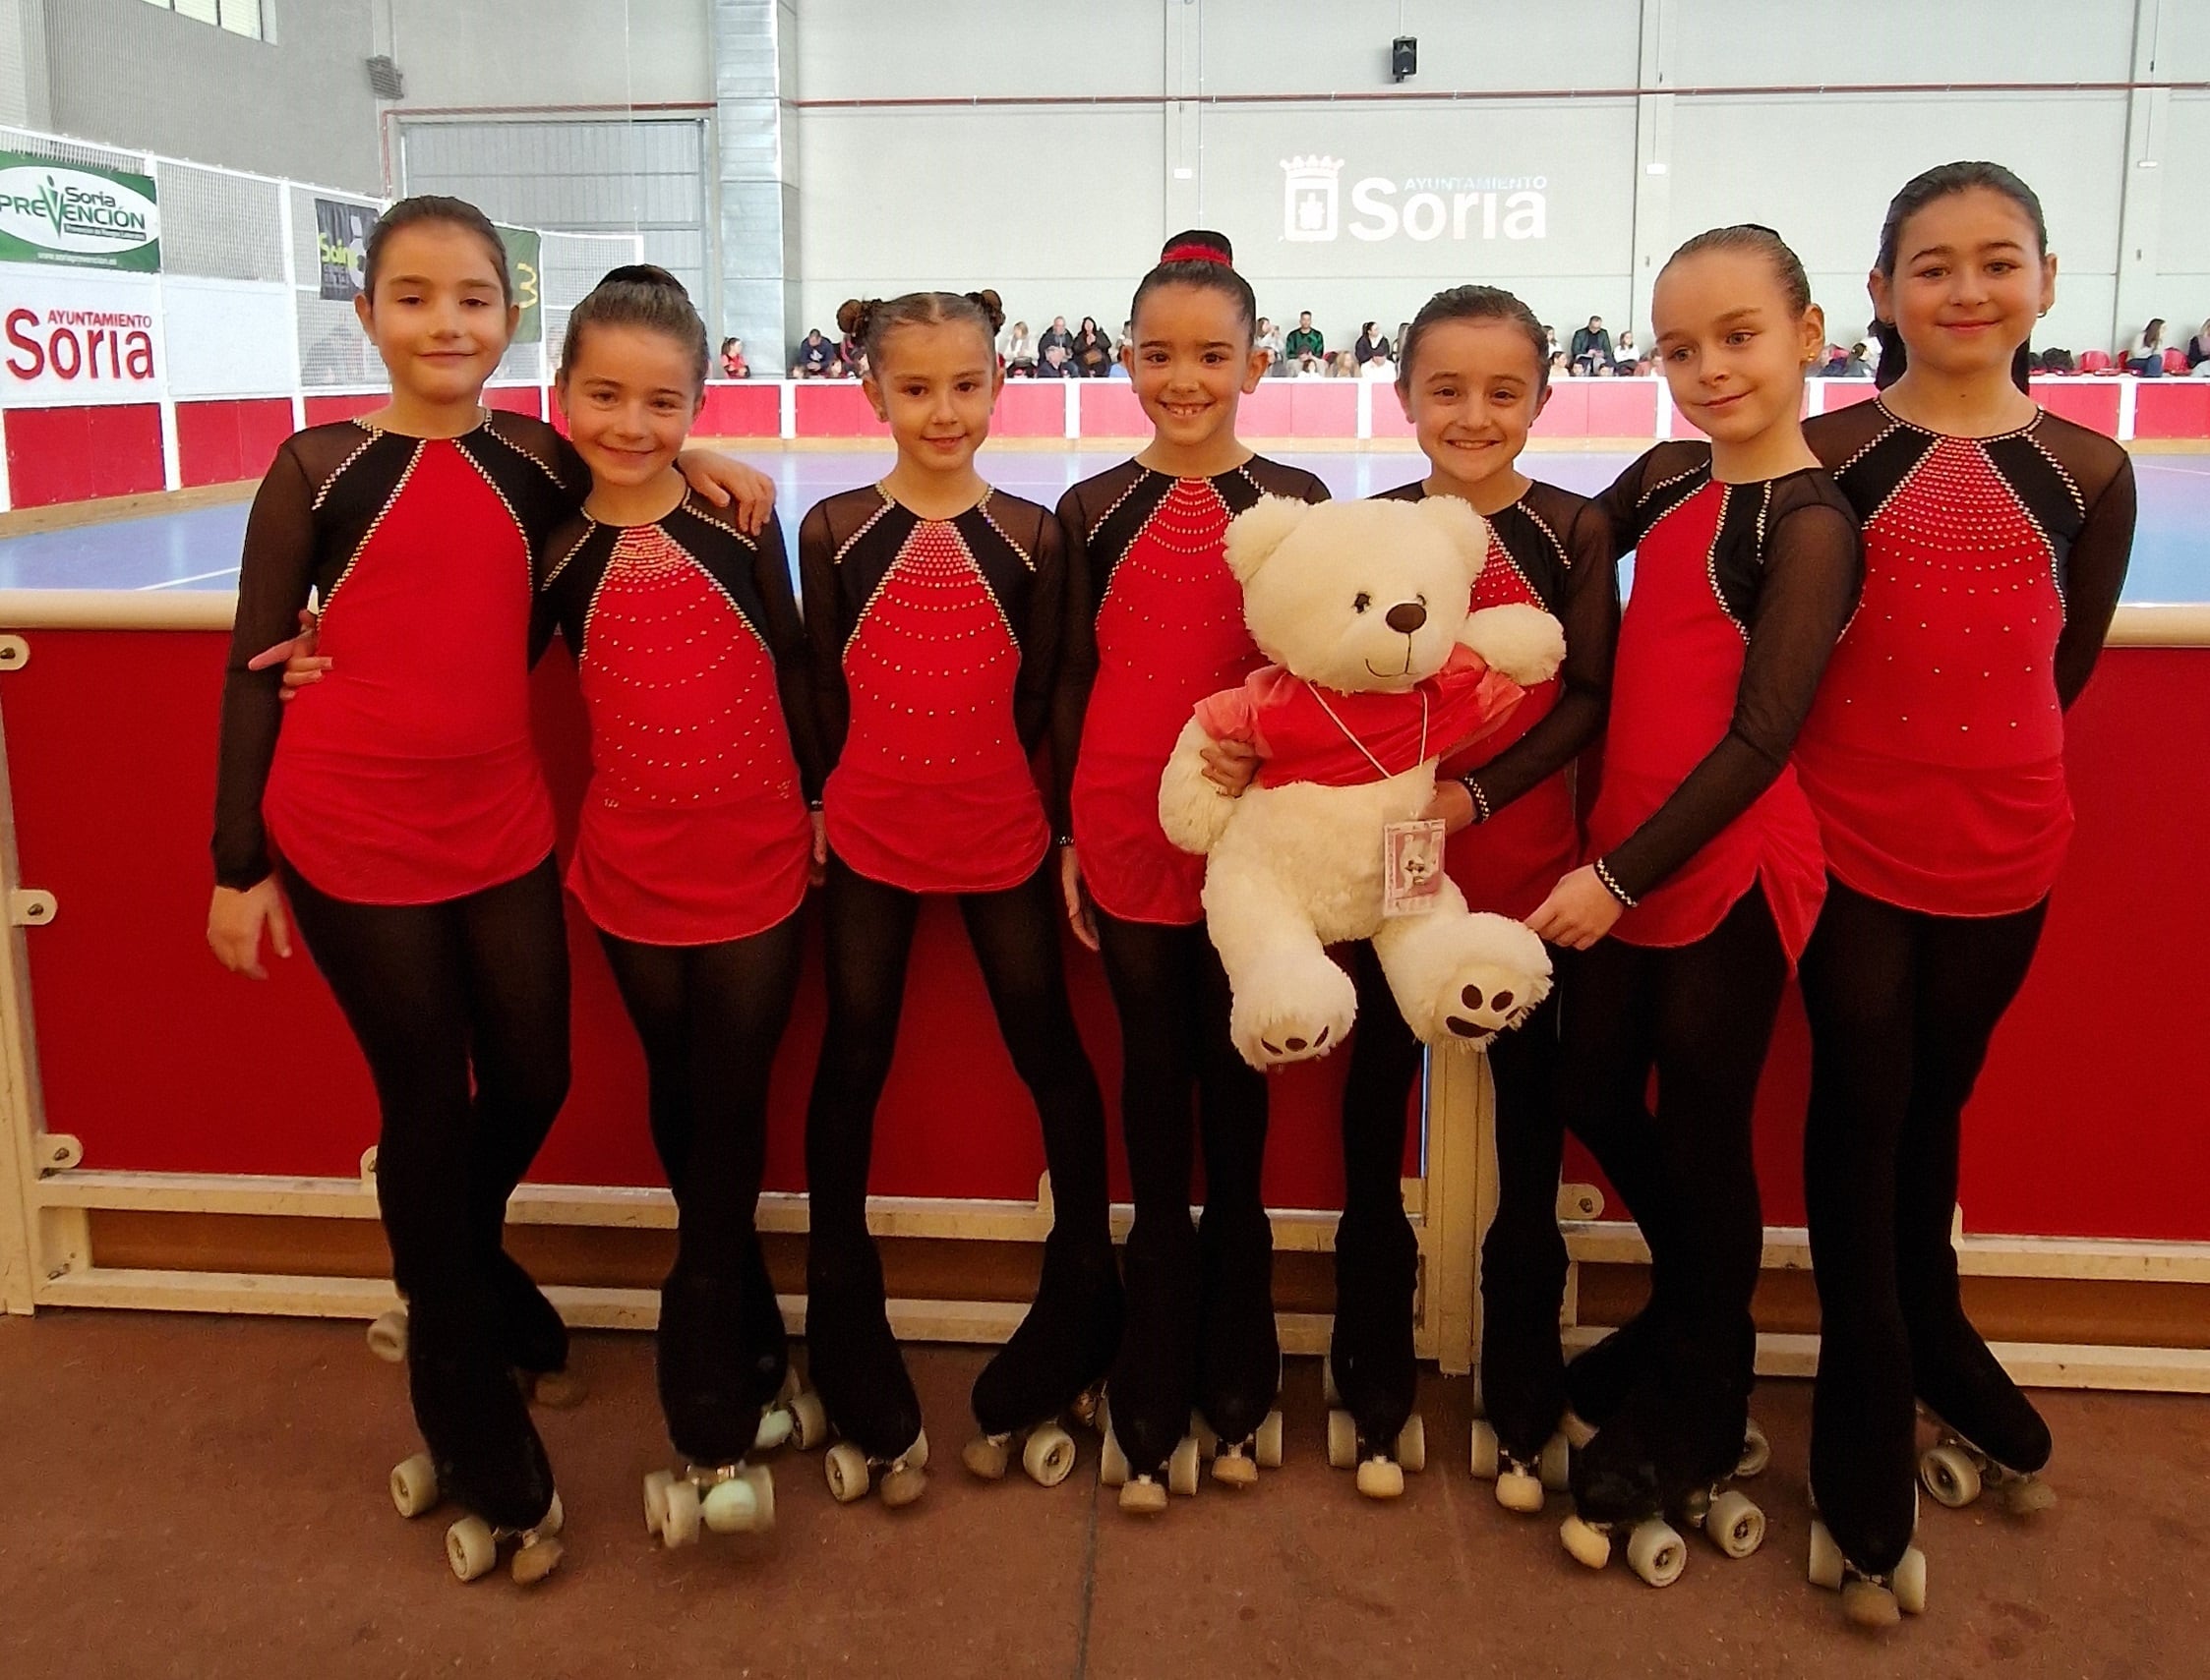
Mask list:
[[[1717,483],[1699,442],[1649,450],[1602,508],[1635,550],[1589,812],[1589,857],[1627,905],[1611,932],[1693,945],[1761,887],[1795,963],[1825,863],[1788,751],[1856,605],[1856,514],[1819,468]]]

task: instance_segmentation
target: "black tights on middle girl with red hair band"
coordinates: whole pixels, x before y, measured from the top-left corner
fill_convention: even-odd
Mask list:
[[[1120,1016],[1120,1128],[1136,1201],[1112,1417],[1129,1468],[1149,1475],[1193,1402],[1231,1442],[1273,1404],[1273,1232],[1260,1185],[1266,1080],[1229,1040],[1229,978],[1202,923],[1160,927],[1105,912],[1096,921]],[[1200,1148],[1204,1223],[1193,1232]]]

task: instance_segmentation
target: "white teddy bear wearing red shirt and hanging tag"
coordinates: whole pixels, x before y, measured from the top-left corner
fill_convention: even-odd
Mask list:
[[[1425,914],[1383,916],[1386,828],[1434,797],[1436,759],[1503,724],[1523,684],[1565,658],[1538,607],[1470,612],[1490,530],[1456,497],[1324,501],[1264,497],[1227,534],[1244,623],[1273,660],[1198,704],[1167,759],[1158,821],[1207,854],[1204,923],[1235,993],[1235,1049],[1257,1068],[1326,1055],[1350,1033],[1357,993],[1326,954],[1370,938],[1406,1022],[1425,1044],[1487,1044],[1549,991],[1543,940],[1474,914],[1441,859]],[[1231,799],[1202,751],[1238,737],[1260,753]]]

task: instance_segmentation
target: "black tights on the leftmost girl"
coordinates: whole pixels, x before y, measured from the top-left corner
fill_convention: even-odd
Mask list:
[[[559,874],[548,857],[435,905],[332,899],[296,870],[285,890],[376,1080],[376,1201],[409,1300],[422,1439],[482,1517],[535,1523],[550,1470],[506,1367],[517,1311],[550,1309],[506,1258],[502,1230],[568,1095]],[[557,1316],[550,1325],[557,1336]],[[550,1364],[564,1360],[561,1340]]]

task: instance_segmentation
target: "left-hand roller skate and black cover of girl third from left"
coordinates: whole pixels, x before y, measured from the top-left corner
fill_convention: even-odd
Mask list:
[[[928,1488],[922,1402],[891,1336],[882,1261],[857,1241],[813,1234],[807,1254],[807,1351],[827,1422],[846,1439],[822,1459],[840,1506],[880,1488],[882,1503],[911,1506]]]

